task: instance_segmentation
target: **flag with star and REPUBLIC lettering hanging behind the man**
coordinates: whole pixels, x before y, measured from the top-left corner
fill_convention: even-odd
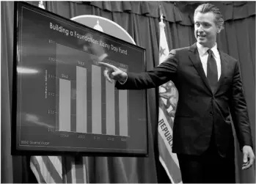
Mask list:
[[[161,16],[159,22],[159,64],[169,54],[167,37],[164,32],[165,24]],[[159,87],[159,114],[158,114],[158,150],[159,160],[172,183],[182,183],[180,166],[175,153],[172,153],[172,128],[178,102],[178,90],[172,81]]]

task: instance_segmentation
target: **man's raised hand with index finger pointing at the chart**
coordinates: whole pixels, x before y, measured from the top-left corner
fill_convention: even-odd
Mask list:
[[[112,83],[113,80],[124,82],[127,78],[127,73],[114,65],[109,65],[106,62],[98,62],[98,65],[106,67],[106,70],[104,70],[104,76],[110,83]]]

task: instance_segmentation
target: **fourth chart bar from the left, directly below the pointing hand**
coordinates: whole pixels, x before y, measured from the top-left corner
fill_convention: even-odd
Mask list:
[[[106,134],[115,135],[114,83],[109,81],[106,81]]]

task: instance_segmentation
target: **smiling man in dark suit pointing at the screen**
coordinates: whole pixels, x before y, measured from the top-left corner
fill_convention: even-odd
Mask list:
[[[148,89],[172,80],[179,92],[172,151],[178,154],[183,183],[235,183],[234,139],[230,114],[244,166],[255,155],[238,61],[219,51],[216,35],[223,29],[221,12],[201,4],[194,12],[197,43],[170,51],[167,59],[145,73],[108,67],[106,79],[117,89]]]

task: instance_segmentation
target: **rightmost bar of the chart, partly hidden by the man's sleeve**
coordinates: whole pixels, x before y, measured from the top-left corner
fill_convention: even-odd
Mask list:
[[[126,69],[120,68],[123,71]],[[119,128],[120,136],[128,136],[128,97],[127,90],[119,90]]]

